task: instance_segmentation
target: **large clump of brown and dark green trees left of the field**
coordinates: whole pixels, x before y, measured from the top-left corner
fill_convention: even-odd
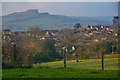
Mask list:
[[[59,58],[53,39],[40,40],[39,28],[28,30],[26,34],[14,35],[13,39],[5,40],[2,45],[2,64],[4,67],[32,67],[32,64],[54,61]]]

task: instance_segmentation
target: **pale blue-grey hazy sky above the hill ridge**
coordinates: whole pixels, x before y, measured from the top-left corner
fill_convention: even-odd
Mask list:
[[[118,5],[117,2],[112,2],[113,0],[109,0],[111,2],[35,2],[38,0],[35,0],[34,2],[32,2],[33,0],[25,1],[26,2],[2,2],[2,14],[0,14],[0,16],[13,12],[23,12],[28,9],[38,9],[40,13],[48,12],[50,14],[66,16],[95,17],[118,15]]]

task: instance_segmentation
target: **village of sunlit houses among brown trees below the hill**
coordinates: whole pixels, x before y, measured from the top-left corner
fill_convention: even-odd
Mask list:
[[[66,46],[69,50],[76,50],[82,44],[90,46],[91,44],[105,40],[118,42],[118,20],[119,18],[115,16],[113,19],[113,25],[109,26],[88,25],[88,27],[82,27],[80,23],[77,23],[75,24],[74,29],[40,30],[38,33],[36,32],[35,37],[39,40],[53,39],[55,41],[54,46],[56,47],[56,51],[58,53],[61,53],[61,49],[64,46]],[[38,27],[35,28],[37,30]],[[2,41],[3,43],[10,42],[10,44],[14,46],[16,44],[15,36],[33,36],[35,28],[31,29],[31,31],[13,31],[13,29],[3,29]],[[71,42],[69,41],[70,39]],[[76,42],[76,39],[78,39],[78,42]],[[79,39],[81,39],[81,41]],[[69,45],[66,44],[67,42],[69,42]],[[114,47],[117,48],[117,46],[112,45],[111,52],[117,53],[116,50],[113,50]],[[75,55],[75,51],[72,52],[72,55]]]

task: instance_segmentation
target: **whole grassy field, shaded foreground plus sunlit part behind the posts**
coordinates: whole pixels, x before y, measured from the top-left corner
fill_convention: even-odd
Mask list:
[[[105,70],[101,70],[100,59],[86,59],[82,62],[63,61],[35,64],[33,68],[3,69],[3,78],[117,78],[118,58],[104,59]]]

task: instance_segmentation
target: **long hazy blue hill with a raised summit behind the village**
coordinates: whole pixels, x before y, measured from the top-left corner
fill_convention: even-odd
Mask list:
[[[104,20],[105,19],[105,20]],[[30,9],[25,12],[15,12],[2,16],[3,28],[13,28],[14,30],[26,30],[29,27],[38,26],[41,29],[62,29],[73,28],[76,23],[82,26],[87,25],[111,25],[110,18],[100,17],[71,17],[64,15],[53,15],[49,13],[39,13],[37,9]]]

